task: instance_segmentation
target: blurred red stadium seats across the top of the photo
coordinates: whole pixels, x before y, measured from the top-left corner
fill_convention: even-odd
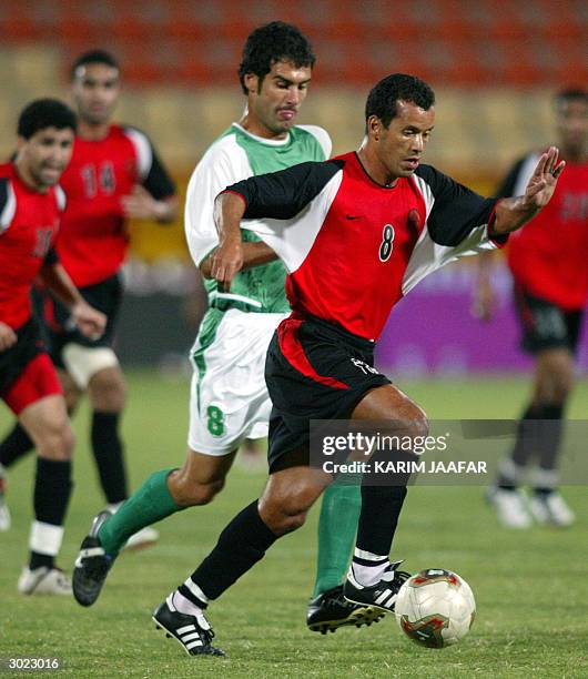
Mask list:
[[[233,79],[247,32],[272,18],[311,36],[323,82],[361,84],[391,69],[465,87],[588,78],[581,0],[3,0],[0,31],[18,43],[59,37],[64,63],[80,43],[132,47],[126,75],[139,84],[216,84]]]

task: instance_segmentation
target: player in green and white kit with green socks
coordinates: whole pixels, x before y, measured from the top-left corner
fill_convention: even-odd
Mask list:
[[[274,21],[247,38],[239,71],[247,107],[240,122],[209,148],[187,188],[186,239],[210,302],[191,356],[187,457],[181,469],[153,474],[114,516],[101,513],[94,519],[73,576],[75,598],[84,606],[98,598],[130,535],[180,509],[210,503],[224,486],[239,446],[267,435],[265,355],[276,326],[290,313],[286,271],[253,231],[245,231],[243,271],[231,293],[219,290],[210,277],[210,255],[219,244],[213,205],[216,194],[236,181],[330,156],[331,140],[323,129],[294,124],[314,61],[308,41],[293,26]],[[325,494],[317,578],[307,615],[313,630],[369,624],[381,616],[371,607],[349,604],[342,592],[359,505],[356,486],[334,485]],[[193,614],[193,604],[180,592],[172,606]]]

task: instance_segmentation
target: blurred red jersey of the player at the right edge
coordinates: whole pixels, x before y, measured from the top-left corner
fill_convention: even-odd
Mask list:
[[[540,153],[519,160],[498,194],[520,195]],[[549,203],[514,233],[508,265],[520,287],[566,311],[584,307],[588,297],[588,163],[566,164]]]

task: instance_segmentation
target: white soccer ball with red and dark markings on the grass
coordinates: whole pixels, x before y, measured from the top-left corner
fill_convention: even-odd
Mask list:
[[[476,601],[469,585],[457,574],[429,568],[401,587],[395,614],[409,639],[427,648],[443,648],[467,635],[476,615]]]

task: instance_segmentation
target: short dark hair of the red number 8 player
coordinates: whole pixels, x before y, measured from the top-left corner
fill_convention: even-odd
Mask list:
[[[435,103],[435,92],[430,87],[416,75],[405,73],[393,73],[381,80],[367,95],[365,104],[365,120],[375,115],[387,128],[398,111],[396,102],[408,101],[428,111]]]

